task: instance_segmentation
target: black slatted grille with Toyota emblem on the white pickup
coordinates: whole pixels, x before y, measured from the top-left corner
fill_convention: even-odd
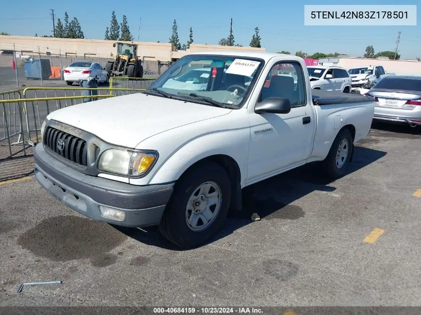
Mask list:
[[[87,165],[87,144],[85,140],[55,128],[47,127],[43,143],[44,146],[65,159],[79,165]]]

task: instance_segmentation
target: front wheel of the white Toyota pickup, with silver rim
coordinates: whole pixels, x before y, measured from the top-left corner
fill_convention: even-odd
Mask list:
[[[216,204],[214,205],[212,202],[210,207],[207,206],[209,200],[206,197],[204,202],[200,199],[199,188],[204,184],[207,185],[204,187],[204,195],[208,195],[206,194],[208,191],[220,197],[217,201],[214,200]],[[207,187],[211,187],[211,190],[208,190]],[[193,201],[193,199],[195,200]],[[173,195],[165,207],[158,225],[159,231],[167,240],[179,247],[196,247],[219,231],[225,222],[230,202],[231,182],[227,172],[219,164],[201,163],[184,173],[176,182]],[[193,210],[189,210],[192,208],[188,207],[188,205],[196,203],[199,203],[196,205],[196,211],[200,211],[197,214]],[[211,211],[212,217],[207,209],[213,210],[213,213]],[[210,218],[207,225],[201,218],[205,217],[203,213],[208,213]],[[200,218],[194,220],[196,217]],[[188,223],[190,218],[193,218],[191,224]],[[195,221],[196,227],[194,226]]]

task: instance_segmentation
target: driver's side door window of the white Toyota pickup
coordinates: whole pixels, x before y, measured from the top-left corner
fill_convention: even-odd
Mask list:
[[[288,99],[292,107],[305,106],[304,74],[297,62],[275,64],[266,78],[259,102],[271,97]]]

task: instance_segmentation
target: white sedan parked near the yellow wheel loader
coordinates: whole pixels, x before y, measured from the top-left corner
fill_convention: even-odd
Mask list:
[[[96,62],[76,61],[70,66],[64,68],[64,81],[67,85],[72,85],[80,80],[89,78],[98,78],[99,83],[109,81],[108,73],[103,66]]]

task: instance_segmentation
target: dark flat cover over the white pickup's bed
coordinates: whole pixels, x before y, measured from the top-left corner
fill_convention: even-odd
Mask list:
[[[311,90],[314,105],[374,102],[372,97],[334,91]]]

